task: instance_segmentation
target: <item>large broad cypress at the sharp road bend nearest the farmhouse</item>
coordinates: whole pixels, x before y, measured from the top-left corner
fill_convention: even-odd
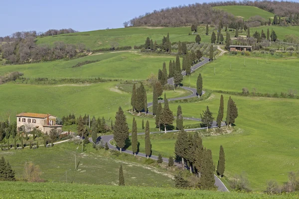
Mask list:
[[[122,153],[122,148],[126,145],[126,140],[129,137],[129,127],[127,123],[126,115],[122,107],[119,107],[119,110],[116,112],[115,115],[115,124],[114,124],[114,140],[116,141],[117,147],[120,148]]]

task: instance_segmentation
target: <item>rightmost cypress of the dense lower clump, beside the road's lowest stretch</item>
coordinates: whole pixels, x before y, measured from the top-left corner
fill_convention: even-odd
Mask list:
[[[212,151],[210,149],[204,150],[204,166],[203,166],[203,171],[202,171],[202,176],[201,176],[201,186],[202,189],[205,190],[210,190],[214,189],[215,186],[215,179],[214,179],[214,164],[213,164],[213,158],[212,158]]]

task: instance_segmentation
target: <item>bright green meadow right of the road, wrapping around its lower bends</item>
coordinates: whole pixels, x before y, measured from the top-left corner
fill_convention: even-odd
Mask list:
[[[223,96],[226,113],[229,96]],[[204,146],[212,149],[214,162],[217,162],[219,157],[219,146],[223,145],[226,155],[225,175],[228,178],[245,171],[252,189],[256,191],[264,191],[267,180],[276,179],[281,184],[286,182],[288,172],[297,171],[299,165],[299,116],[296,113],[299,100],[240,96],[232,96],[232,99],[236,102],[239,112],[236,132],[203,138]],[[200,117],[207,105],[213,116],[217,117],[219,101],[220,94],[214,93],[209,100],[180,105],[183,116],[186,117]],[[173,112],[176,111],[177,105],[178,103],[169,103]],[[224,120],[225,116],[226,114]],[[155,137],[151,139],[153,155],[174,155],[176,133],[152,136]],[[140,136],[139,141],[140,151],[144,152],[144,136]]]

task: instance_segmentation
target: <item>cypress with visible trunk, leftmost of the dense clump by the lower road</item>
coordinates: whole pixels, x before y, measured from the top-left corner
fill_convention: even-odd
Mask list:
[[[184,169],[184,158],[186,158],[187,149],[188,149],[188,142],[187,142],[188,135],[184,129],[181,129],[177,135],[175,145],[174,145],[174,152],[177,156],[182,159],[182,168]]]

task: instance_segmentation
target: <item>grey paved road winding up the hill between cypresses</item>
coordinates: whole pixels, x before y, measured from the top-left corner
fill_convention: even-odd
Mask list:
[[[202,62],[199,62],[198,64],[194,65],[193,67],[191,67],[191,73],[193,73],[196,69],[200,68],[201,66],[203,66],[204,64],[208,63],[209,62],[209,59],[207,57],[203,57],[204,61]],[[186,72],[182,72],[182,75],[185,76],[186,75]],[[170,78],[167,80],[167,83],[169,85],[173,85],[173,78]],[[196,95],[196,89],[194,88],[189,88],[189,87],[184,87],[182,86],[181,87],[182,89],[185,89],[185,90],[188,90],[188,91],[191,91],[192,94],[189,95],[189,96],[185,96],[185,97],[180,97],[180,98],[172,98],[172,99],[168,99],[168,101],[173,101],[173,100],[183,100],[183,99],[188,99],[188,98],[194,98],[194,97],[197,97]],[[204,92],[202,93],[204,94]],[[158,102],[164,102],[164,100],[159,100]],[[148,103],[148,107],[152,106],[152,102],[149,102]],[[149,114],[152,114],[149,112]],[[201,121],[200,118],[190,118],[190,117],[183,117],[183,119],[189,119],[189,120],[195,120],[195,121]],[[224,123],[222,124],[224,125]],[[212,124],[212,128],[214,127],[217,127],[216,126],[216,122],[213,121],[213,124]],[[206,129],[206,128],[193,128],[193,129],[185,129],[185,131],[194,131],[194,130],[199,130],[199,129]],[[170,131],[166,131],[166,132],[175,132],[175,131],[178,131],[178,130],[170,130]],[[153,134],[153,133],[161,133],[160,131],[158,132],[150,132],[150,134]],[[138,133],[138,135],[144,135],[145,133]],[[131,134],[130,134],[131,135]],[[92,142],[92,139],[89,138],[89,140]],[[113,140],[113,135],[103,135],[101,137],[98,137],[97,141],[100,141],[100,140],[103,140],[103,143],[108,143],[108,146],[109,146],[109,149],[112,149],[112,150],[118,150],[118,148],[112,144],[110,144],[110,141]],[[131,155],[134,155],[133,154],[133,151],[130,151],[130,150],[126,150],[126,149],[122,149],[122,152],[123,153],[128,153],[128,154],[131,154]],[[141,157],[147,157],[146,154],[144,153],[137,153],[136,154],[137,156],[141,156]],[[150,155],[149,158],[153,159],[153,160],[157,160],[158,157],[157,156],[154,156],[154,155]],[[168,158],[162,158],[163,162],[166,162],[168,163]],[[174,163],[176,166],[178,167],[181,167],[181,164],[180,162],[175,162]],[[221,191],[221,192],[229,192],[228,189],[225,187],[225,185],[221,182],[221,180],[216,176],[214,175],[214,178],[215,178],[215,186],[218,187],[218,191]]]

